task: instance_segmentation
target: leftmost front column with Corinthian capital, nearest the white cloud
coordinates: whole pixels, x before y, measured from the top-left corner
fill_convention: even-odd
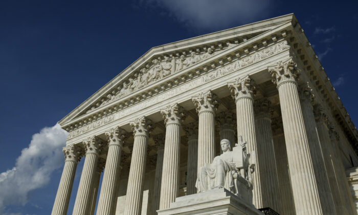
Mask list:
[[[65,215],[67,213],[76,167],[82,156],[82,150],[78,145],[68,145],[63,147],[62,150],[65,159],[64,167],[52,208],[52,215]]]

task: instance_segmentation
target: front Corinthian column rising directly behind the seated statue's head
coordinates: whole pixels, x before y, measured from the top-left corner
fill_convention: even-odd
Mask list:
[[[192,98],[199,116],[197,169],[215,157],[216,95],[211,90]]]

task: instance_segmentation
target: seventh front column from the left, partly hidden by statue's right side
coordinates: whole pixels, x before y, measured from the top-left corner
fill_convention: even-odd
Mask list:
[[[252,80],[249,76],[243,79],[235,79],[235,81],[228,83],[228,87],[236,103],[237,135],[242,136],[242,139],[247,141],[248,152],[255,150],[257,160],[257,157],[261,155],[257,152],[253,106],[256,89],[252,85]],[[262,191],[259,175],[260,165],[259,162],[256,162],[255,171],[253,173],[253,204],[256,208],[262,208]]]

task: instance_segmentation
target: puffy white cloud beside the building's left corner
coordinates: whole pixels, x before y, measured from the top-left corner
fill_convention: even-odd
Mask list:
[[[0,213],[7,205],[25,205],[30,191],[49,183],[53,171],[63,166],[62,146],[67,136],[59,124],[32,136],[15,166],[0,174]]]

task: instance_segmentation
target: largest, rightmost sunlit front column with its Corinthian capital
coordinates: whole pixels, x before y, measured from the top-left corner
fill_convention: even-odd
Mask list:
[[[296,214],[322,214],[315,171],[312,166],[297,92],[299,75],[297,64],[292,58],[289,58],[269,67],[269,71],[272,74],[272,81],[277,85],[280,97]]]

